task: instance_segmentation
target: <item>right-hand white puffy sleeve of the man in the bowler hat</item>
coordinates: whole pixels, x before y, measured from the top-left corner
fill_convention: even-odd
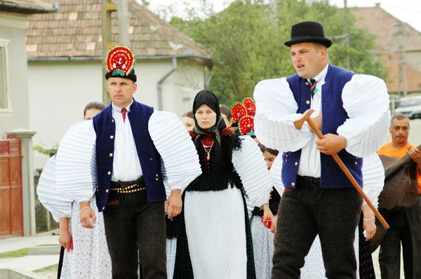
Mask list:
[[[342,90],[342,102],[349,119],[338,127],[347,140],[346,150],[358,157],[377,151],[387,141],[390,111],[385,81],[355,74]]]

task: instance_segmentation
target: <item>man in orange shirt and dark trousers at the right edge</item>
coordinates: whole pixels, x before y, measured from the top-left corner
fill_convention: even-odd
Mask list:
[[[387,212],[389,230],[380,243],[379,263],[382,279],[400,278],[401,243],[405,278],[421,278],[421,151],[408,142],[408,117],[396,114],[389,131],[392,142],[382,146],[377,154],[401,158],[407,152],[417,163],[418,199],[410,208]]]

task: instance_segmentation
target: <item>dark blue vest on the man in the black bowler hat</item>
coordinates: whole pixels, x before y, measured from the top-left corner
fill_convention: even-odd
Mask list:
[[[325,84],[321,87],[321,114],[323,135],[328,133],[338,135],[336,130],[340,125],[345,123],[348,114],[342,104],[342,90],[345,83],[352,79],[354,73],[329,65],[326,74]],[[295,101],[298,104],[298,114],[304,113],[310,108],[310,85],[307,79],[302,79],[298,74],[288,76],[286,79],[289,83]],[[333,161],[332,156],[320,154],[321,160],[321,177],[320,186],[322,188],[352,188],[351,182],[340,170],[339,166]],[[295,189],[297,184],[298,165],[300,164],[301,149],[295,152],[284,152],[282,155],[282,182],[288,189]],[[363,186],[363,175],[361,168],[363,166],[362,158],[358,158],[349,154],[345,149],[338,153],[338,156],[345,163],[349,172],[354,176],[356,181]]]

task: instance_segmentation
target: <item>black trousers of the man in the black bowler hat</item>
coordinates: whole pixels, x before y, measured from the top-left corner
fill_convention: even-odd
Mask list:
[[[326,277],[356,278],[354,237],[362,198],[354,189],[321,189],[318,179],[299,177],[279,206],[272,278],[300,278],[314,238],[319,234]]]

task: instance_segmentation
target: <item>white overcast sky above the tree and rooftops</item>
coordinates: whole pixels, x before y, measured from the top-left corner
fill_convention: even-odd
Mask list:
[[[140,0],[138,0],[140,1]],[[175,13],[179,17],[183,17],[185,13],[185,3],[194,7],[198,2],[203,0],[149,0],[150,9],[158,11],[166,6],[173,6]],[[213,4],[214,11],[222,11],[232,0],[206,0],[209,4]],[[345,0],[330,0],[330,4],[338,7],[344,6]],[[406,22],[419,32],[421,32],[421,0],[347,0],[349,7],[368,7],[375,6],[380,3],[380,7],[388,13],[394,15],[402,22]]]

